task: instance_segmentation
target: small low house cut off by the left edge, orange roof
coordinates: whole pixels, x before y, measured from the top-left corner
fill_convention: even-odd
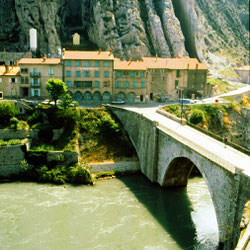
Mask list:
[[[0,92],[4,97],[20,96],[20,68],[17,66],[0,66]]]

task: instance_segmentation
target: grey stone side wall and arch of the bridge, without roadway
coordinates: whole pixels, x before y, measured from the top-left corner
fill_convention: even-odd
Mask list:
[[[202,155],[138,112],[108,109],[121,121],[137,151],[142,173],[152,182],[163,187],[186,186],[192,168],[199,169],[214,204],[221,249],[234,249],[244,205],[250,198],[249,176],[237,168],[224,168],[218,159]]]

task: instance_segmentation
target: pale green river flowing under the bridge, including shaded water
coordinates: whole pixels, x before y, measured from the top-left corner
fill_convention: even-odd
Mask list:
[[[215,249],[204,179],[162,189],[144,176],[95,186],[0,184],[1,250]]]

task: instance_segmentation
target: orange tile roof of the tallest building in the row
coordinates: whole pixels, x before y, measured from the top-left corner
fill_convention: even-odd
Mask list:
[[[114,56],[109,51],[68,51],[63,54],[65,60],[113,60]]]

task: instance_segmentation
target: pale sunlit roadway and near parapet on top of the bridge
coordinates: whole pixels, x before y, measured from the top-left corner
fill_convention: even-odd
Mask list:
[[[167,118],[156,112],[158,107],[124,107],[124,109],[142,114],[144,117],[157,122],[160,129],[164,130],[171,137],[181,141],[188,147],[195,150],[217,163],[228,171],[235,173],[236,168],[243,174],[250,177],[250,157],[240,151],[225,145],[224,143],[194,129],[188,125]]]

